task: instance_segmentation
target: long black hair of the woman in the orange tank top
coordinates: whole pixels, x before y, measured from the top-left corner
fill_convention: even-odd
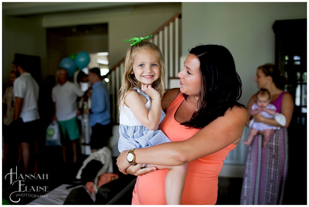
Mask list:
[[[239,102],[242,85],[233,56],[224,46],[199,45],[189,53],[200,60],[201,96],[198,100],[199,110],[182,124],[201,129],[223,116],[229,108],[244,106]]]

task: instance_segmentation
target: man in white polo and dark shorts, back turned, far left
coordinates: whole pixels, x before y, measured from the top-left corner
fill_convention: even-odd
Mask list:
[[[13,92],[15,97],[14,124],[16,126],[17,138],[21,148],[24,173],[37,173],[37,140],[39,135],[39,85],[32,77],[29,69],[29,61],[24,58],[15,58],[13,68],[20,76],[14,81]],[[28,169],[31,156],[30,146],[34,146],[34,169]]]

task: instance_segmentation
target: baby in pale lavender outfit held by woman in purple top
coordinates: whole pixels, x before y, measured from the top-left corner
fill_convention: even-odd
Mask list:
[[[256,103],[251,107],[250,114],[252,116],[261,113],[265,118],[274,118],[276,114],[276,106],[270,103],[270,93],[266,89],[260,89],[256,93]],[[246,146],[250,146],[254,136],[259,132],[263,131],[263,148],[267,148],[267,144],[270,139],[270,135],[273,133],[274,129],[277,129],[276,126],[270,126],[262,122],[254,122],[252,119],[250,121],[251,130],[248,135],[247,141],[243,140],[243,143]]]

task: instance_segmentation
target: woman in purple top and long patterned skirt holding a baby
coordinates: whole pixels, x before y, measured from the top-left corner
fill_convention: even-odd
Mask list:
[[[257,68],[254,81],[258,89],[267,89],[270,103],[277,108],[281,116],[265,118],[257,113],[248,113],[246,125],[250,120],[279,127],[270,136],[268,148],[263,148],[261,133],[257,134],[247,149],[240,205],[282,205],[284,187],[288,174],[288,130],[294,110],[294,101],[290,93],[282,90],[285,77],[281,76],[274,64],[264,64]],[[254,94],[247,105],[248,110],[256,102]],[[285,122],[282,123],[282,115]]]

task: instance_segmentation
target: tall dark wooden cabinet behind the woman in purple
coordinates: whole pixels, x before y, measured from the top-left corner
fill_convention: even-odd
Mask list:
[[[307,205],[307,19],[275,21],[273,31],[275,64],[287,78],[284,89],[292,95],[295,104],[288,128],[285,204]]]

